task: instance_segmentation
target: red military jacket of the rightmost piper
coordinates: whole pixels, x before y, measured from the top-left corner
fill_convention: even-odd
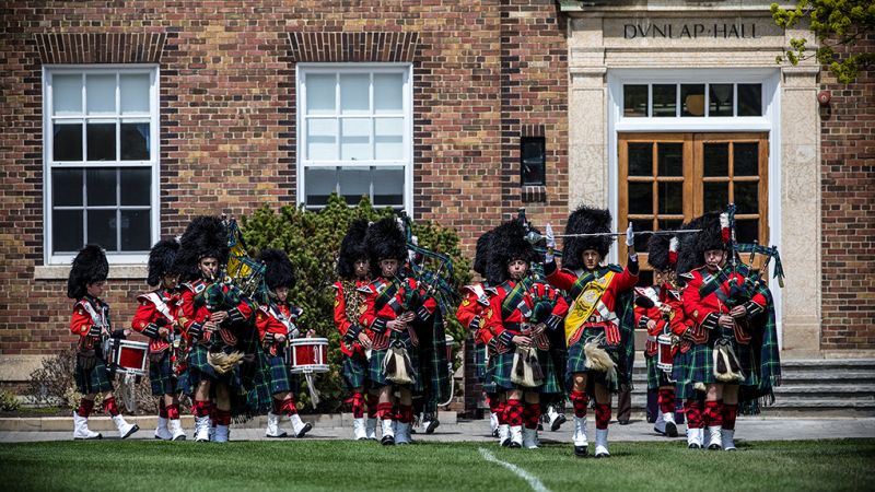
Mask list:
[[[718,325],[720,316],[732,311],[726,305],[726,302],[730,301],[732,281],[734,280],[739,284],[745,281],[744,277],[738,272],[727,272],[724,269],[712,276],[705,267],[684,273],[684,278],[687,280],[687,286],[682,293],[684,311],[702,331],[716,329],[720,326]],[[747,308],[746,319],[762,313],[767,303],[766,296],[759,292],[755,293],[749,301],[744,303]],[[734,331],[738,342],[747,343],[750,341],[746,320],[736,323]],[[704,343],[705,341],[707,338],[703,337],[697,343]]]

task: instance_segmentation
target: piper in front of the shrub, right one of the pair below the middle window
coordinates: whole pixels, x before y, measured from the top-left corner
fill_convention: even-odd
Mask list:
[[[377,277],[361,289],[366,307],[359,321],[372,343],[369,367],[371,382],[380,388],[381,441],[384,445],[409,444],[412,391],[422,390],[417,354],[419,340],[411,323],[430,320],[436,303],[425,296],[413,279],[400,277],[399,269],[408,254],[404,232],[394,219],[383,219],[371,225],[365,245],[371,271]],[[400,395],[397,427],[393,423],[395,389]]]

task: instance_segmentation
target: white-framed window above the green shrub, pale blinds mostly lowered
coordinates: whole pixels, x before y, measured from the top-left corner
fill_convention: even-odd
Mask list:
[[[298,94],[299,203],[364,195],[411,213],[412,66],[299,63]]]

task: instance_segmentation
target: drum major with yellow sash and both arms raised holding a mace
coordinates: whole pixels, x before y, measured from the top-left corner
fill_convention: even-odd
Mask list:
[[[594,394],[596,400],[595,457],[608,457],[610,393],[631,384],[634,321],[627,294],[638,282],[638,255],[630,224],[626,269],[602,266],[614,243],[610,225],[609,211],[579,208],[569,215],[565,233],[600,235],[567,238],[561,270],[557,269],[549,249],[544,265],[550,284],[565,291],[572,301],[564,324],[569,350],[565,376],[570,379],[574,406],[574,454],[580,457],[588,453],[590,395]]]

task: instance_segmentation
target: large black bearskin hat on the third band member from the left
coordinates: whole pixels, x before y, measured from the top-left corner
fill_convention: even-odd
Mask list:
[[[215,258],[219,265],[224,265],[231,253],[225,225],[220,218],[213,215],[196,216],[185,229],[179,245],[174,270],[179,273],[182,282],[200,278],[198,261],[202,258]]]

